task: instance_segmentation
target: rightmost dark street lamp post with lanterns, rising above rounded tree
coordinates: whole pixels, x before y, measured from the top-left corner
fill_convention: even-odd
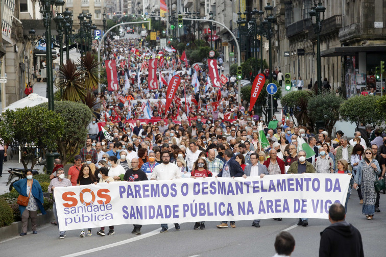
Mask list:
[[[319,34],[322,31],[322,23],[324,20],[324,12],[326,11],[326,7],[322,6],[322,3],[319,2],[318,5],[312,7],[312,10],[309,12],[309,16],[311,16],[311,24],[313,25],[313,30],[317,34],[317,82],[318,82],[318,93],[322,92],[322,64],[320,58],[320,40]],[[322,14],[322,17],[320,17]],[[316,22],[313,22],[313,17],[315,17]]]

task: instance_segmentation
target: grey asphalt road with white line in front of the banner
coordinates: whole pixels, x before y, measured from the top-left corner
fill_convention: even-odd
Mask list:
[[[381,213],[373,220],[361,214],[357,192],[353,190],[348,204],[347,221],[357,227],[362,235],[365,256],[383,256],[386,236],[386,195],[381,194]],[[288,230],[296,240],[293,256],[318,256],[320,232],[329,225],[328,220],[309,219],[307,227],[297,226],[296,219],[282,221],[261,220],[260,228],[252,221],[236,221],[237,228],[219,229],[217,222],[206,222],[205,230],[194,230],[194,223],[181,224],[176,231],[173,225],[167,233],[160,234],[159,225],[145,225],[141,236],[131,234],[132,225],[115,227],[115,235],[100,237],[96,228],[91,237],[80,238],[80,230],[68,231],[59,240],[54,225],[38,229],[37,235],[15,237],[0,242],[2,256],[273,256],[274,241],[281,230]],[[106,227],[106,230],[107,227]]]

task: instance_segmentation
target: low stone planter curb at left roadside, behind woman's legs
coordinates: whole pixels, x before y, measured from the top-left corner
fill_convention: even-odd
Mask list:
[[[52,210],[46,211],[45,215],[39,213],[37,215],[37,226],[49,223],[54,219],[54,212]],[[11,237],[18,236],[21,232],[22,223],[21,221],[13,222],[11,225],[0,227],[0,242]],[[27,232],[31,231],[31,220],[28,220]]]

